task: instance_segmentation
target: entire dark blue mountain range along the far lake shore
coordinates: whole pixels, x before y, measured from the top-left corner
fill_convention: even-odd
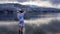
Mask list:
[[[27,8],[28,7],[28,8]],[[23,9],[27,8],[27,11],[35,11],[35,12],[60,12],[60,9],[57,8],[50,8],[50,7],[38,7],[36,5],[21,5],[18,3],[6,3],[6,4],[0,4],[0,10],[13,10],[17,11],[17,9]]]

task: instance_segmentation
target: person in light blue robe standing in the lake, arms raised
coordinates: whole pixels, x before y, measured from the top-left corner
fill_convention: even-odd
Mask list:
[[[23,33],[24,14],[25,14],[25,11],[22,11],[21,9],[17,13],[17,18],[19,20],[19,34],[22,34]]]

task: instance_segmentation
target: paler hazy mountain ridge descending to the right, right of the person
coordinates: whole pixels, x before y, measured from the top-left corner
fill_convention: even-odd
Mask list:
[[[37,12],[60,12],[60,9],[57,8],[50,8],[50,7],[39,7],[36,5],[27,5],[31,8],[31,10],[37,11]]]

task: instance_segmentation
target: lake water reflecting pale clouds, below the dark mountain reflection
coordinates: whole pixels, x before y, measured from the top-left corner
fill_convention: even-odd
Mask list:
[[[60,13],[42,14],[36,17],[38,18],[25,20],[26,34],[60,33]],[[18,21],[0,21],[0,34],[18,34],[18,23]]]

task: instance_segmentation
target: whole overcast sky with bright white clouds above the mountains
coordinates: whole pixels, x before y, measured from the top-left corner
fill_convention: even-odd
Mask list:
[[[40,7],[53,7],[60,9],[60,0],[0,0],[1,2],[20,2],[23,5],[37,5]]]

